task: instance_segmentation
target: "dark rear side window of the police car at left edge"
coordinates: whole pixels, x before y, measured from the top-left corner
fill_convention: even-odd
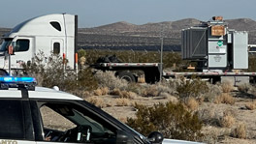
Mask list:
[[[21,101],[0,101],[0,138],[24,139],[24,116]]]

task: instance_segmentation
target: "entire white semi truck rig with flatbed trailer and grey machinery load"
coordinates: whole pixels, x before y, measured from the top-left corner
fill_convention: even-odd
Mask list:
[[[53,52],[65,56],[69,61],[69,68],[75,70],[78,15],[38,16],[18,24],[3,39],[0,47],[2,70],[22,70],[22,63],[33,63],[32,58],[40,51],[46,55],[44,62],[48,62],[48,56]],[[214,16],[202,25],[182,30],[181,43],[182,58],[198,62],[197,72],[162,72],[160,63],[103,62],[91,67],[114,71],[118,77],[128,81],[137,81],[134,71],[143,71],[147,83],[176,75],[198,75],[212,82],[229,78],[234,84],[255,81],[256,72],[240,72],[248,68],[248,33],[229,29],[222,17]],[[15,51],[11,55],[11,65],[8,54],[10,45]]]

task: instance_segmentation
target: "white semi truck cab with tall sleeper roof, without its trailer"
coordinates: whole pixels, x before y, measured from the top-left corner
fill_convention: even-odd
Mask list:
[[[7,49],[11,45],[11,69],[22,69],[23,63],[32,62],[39,52],[46,55],[48,62],[50,52],[65,55],[69,68],[75,68],[75,51],[77,49],[78,15],[48,14],[28,19],[3,36],[0,47],[0,68],[9,69]]]

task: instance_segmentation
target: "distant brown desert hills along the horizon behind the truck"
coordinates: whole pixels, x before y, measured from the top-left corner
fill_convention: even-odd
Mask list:
[[[249,18],[225,20],[230,29],[249,32],[249,43],[256,43],[256,21]],[[83,48],[150,48],[158,49],[160,36],[164,45],[180,48],[180,30],[199,25],[200,20],[186,18],[176,21],[136,25],[125,21],[93,28],[79,28],[79,45]],[[0,35],[10,29],[0,28]]]

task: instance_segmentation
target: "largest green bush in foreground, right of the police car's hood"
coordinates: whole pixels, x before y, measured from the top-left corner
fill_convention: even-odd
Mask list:
[[[182,103],[154,104],[152,107],[136,104],[137,118],[128,118],[127,124],[143,133],[158,130],[166,138],[196,140],[202,136],[202,122],[196,114],[187,111]]]

